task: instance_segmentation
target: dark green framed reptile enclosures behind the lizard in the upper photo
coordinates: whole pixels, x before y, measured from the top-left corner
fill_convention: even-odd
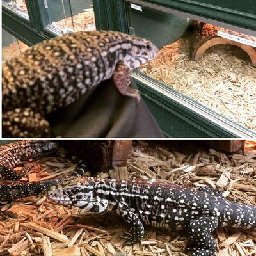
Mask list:
[[[95,28],[138,35],[159,46],[158,58],[132,76],[167,137],[255,137],[252,0],[27,0],[26,6],[18,1],[18,7],[10,7],[10,2],[3,1],[3,46],[8,45],[7,32],[33,45],[68,31]],[[205,24],[199,34],[198,24]],[[196,49],[195,39],[204,42],[208,28],[215,33],[205,42],[211,47]],[[4,52],[10,55],[23,47],[15,42]]]

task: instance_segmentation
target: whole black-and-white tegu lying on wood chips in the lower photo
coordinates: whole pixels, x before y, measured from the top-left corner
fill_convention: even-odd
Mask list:
[[[113,211],[131,226],[127,239],[140,241],[144,225],[188,232],[196,243],[192,256],[212,256],[212,232],[218,226],[256,228],[256,207],[226,200],[210,188],[197,191],[160,182],[69,178],[52,186],[46,195],[58,204],[73,205],[91,212]]]

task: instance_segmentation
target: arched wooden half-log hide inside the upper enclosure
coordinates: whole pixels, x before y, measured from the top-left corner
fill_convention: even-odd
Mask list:
[[[229,40],[227,38],[222,38],[218,36],[218,30],[224,31],[226,33],[234,33],[234,31],[223,29],[218,26],[212,26],[210,24],[205,24],[202,22],[196,25],[191,60],[199,60],[204,54],[204,52],[214,45],[235,45],[243,49],[243,51],[245,51],[248,54],[250,60],[252,61],[253,67],[256,67],[255,47],[242,44],[233,40]],[[241,37],[245,36],[239,33],[236,34],[240,35]]]

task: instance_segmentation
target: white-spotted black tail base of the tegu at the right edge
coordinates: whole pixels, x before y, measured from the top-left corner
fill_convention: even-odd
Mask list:
[[[230,227],[256,228],[256,207],[229,202],[225,205],[224,221]]]

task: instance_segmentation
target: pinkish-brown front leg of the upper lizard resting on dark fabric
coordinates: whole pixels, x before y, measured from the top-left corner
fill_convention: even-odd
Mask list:
[[[123,61],[117,63],[113,72],[113,80],[116,88],[122,95],[135,97],[138,101],[140,100],[138,90],[129,87],[131,84],[131,71]]]

